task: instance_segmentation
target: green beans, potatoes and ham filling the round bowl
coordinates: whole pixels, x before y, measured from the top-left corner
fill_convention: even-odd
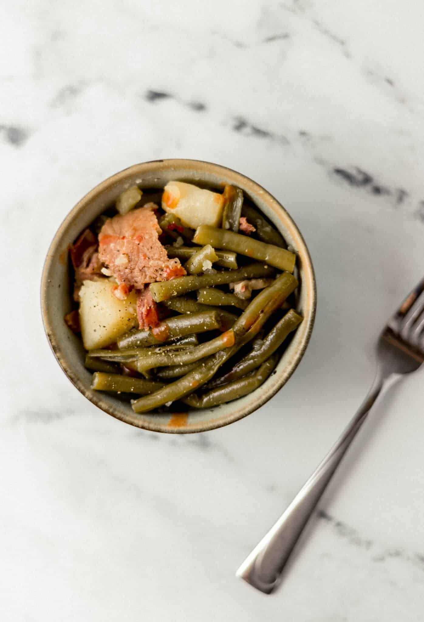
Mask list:
[[[274,371],[302,322],[296,255],[240,188],[137,185],[71,245],[91,388],[135,412],[245,396]]]

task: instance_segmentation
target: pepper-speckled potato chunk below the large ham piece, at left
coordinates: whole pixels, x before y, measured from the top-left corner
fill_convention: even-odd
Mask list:
[[[81,336],[86,350],[108,346],[137,325],[137,297],[133,290],[125,300],[113,293],[108,279],[84,281],[80,289]]]

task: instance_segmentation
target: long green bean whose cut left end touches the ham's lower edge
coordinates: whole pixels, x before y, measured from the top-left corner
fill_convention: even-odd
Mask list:
[[[222,231],[224,234],[230,234],[230,231],[223,231],[222,229],[218,229],[217,231]],[[232,232],[231,234],[238,235],[237,233]],[[245,236],[240,237],[243,239],[245,238]],[[256,240],[249,239],[247,241],[256,242]],[[203,276],[180,276],[175,279],[171,279],[171,281],[150,283],[150,292],[155,302],[162,302],[162,300],[167,300],[168,298],[172,298],[172,296],[187,294],[187,292],[192,292],[193,290],[201,289],[202,287],[213,287],[213,285],[223,285],[233,281],[267,277],[272,276],[273,274],[274,270],[270,266],[264,266],[264,264],[255,262],[238,270],[224,270],[222,272],[216,272],[216,274],[203,274]]]

